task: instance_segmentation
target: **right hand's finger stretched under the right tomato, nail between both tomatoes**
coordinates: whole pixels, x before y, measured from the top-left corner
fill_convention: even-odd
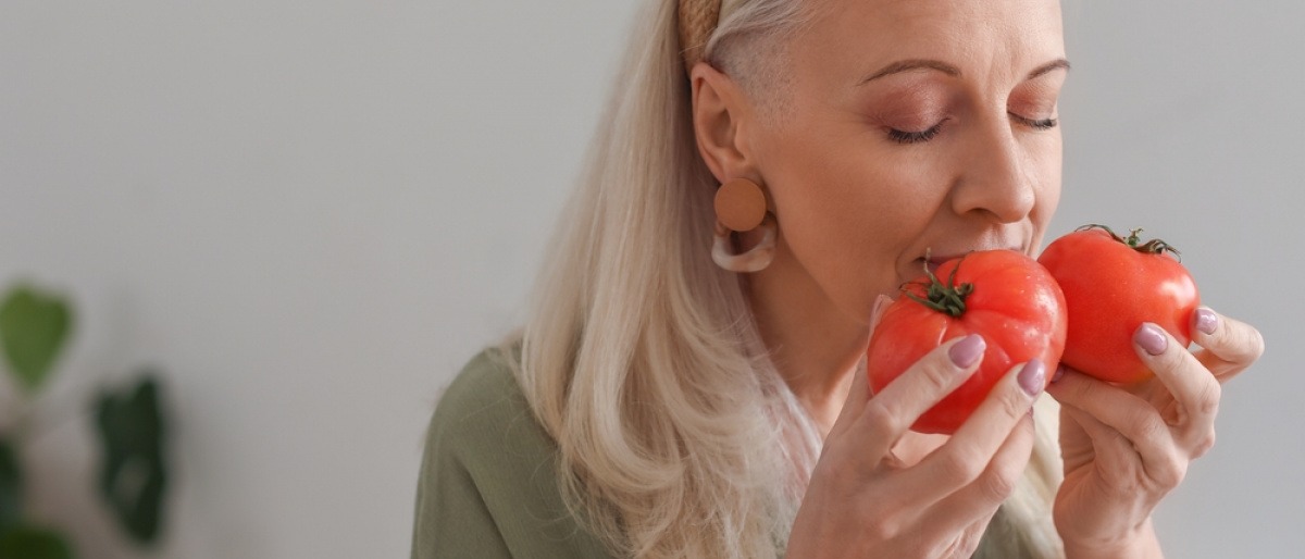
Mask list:
[[[1047,387],[1047,393],[1062,406],[1082,410],[1118,431],[1134,447],[1134,452],[1144,465],[1163,464],[1173,456],[1177,444],[1160,411],[1151,402],[1124,388],[1066,368],[1060,380]]]

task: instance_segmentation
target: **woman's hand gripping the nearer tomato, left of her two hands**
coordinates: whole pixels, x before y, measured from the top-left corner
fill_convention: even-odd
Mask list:
[[[1047,367],[1013,368],[955,435],[904,464],[893,448],[981,360],[983,338],[944,343],[870,397],[856,372],[788,541],[790,558],[968,558],[1023,474]],[[1031,387],[1026,391],[1021,387]]]

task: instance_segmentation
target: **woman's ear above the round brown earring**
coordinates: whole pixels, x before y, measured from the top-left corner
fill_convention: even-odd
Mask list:
[[[689,73],[693,90],[693,133],[707,168],[724,183],[735,178],[760,179],[748,148],[753,107],[729,76],[707,63]]]

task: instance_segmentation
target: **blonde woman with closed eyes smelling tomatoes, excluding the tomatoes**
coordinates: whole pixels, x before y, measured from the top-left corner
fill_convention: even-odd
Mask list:
[[[873,396],[861,370],[921,266],[1036,253],[1058,4],[652,0],[641,21],[526,327],[436,410],[414,556],[1160,556],[1151,511],[1212,444],[1253,328],[1202,308],[1191,354],[1139,325],[1156,377],[1129,389],[1022,363],[953,436],[907,427],[981,337]]]

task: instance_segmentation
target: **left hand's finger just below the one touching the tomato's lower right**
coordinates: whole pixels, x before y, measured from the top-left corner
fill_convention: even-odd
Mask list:
[[[940,500],[932,509],[930,521],[923,522],[929,530],[944,537],[960,532],[976,521],[992,519],[1024,475],[1034,452],[1034,418],[1023,415],[987,461],[987,468],[975,481]],[[941,449],[940,449],[941,451]],[[936,452],[937,453],[937,452]]]

